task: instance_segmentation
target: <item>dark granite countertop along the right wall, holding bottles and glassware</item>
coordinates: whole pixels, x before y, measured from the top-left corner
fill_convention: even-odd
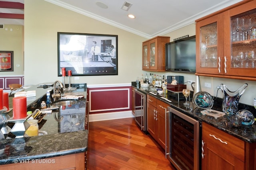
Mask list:
[[[134,86],[133,83],[132,83],[132,86],[134,88],[136,88],[136,86]],[[205,123],[208,123],[208,124],[218,128],[230,135],[233,135],[233,136],[237,137],[238,139],[241,139],[242,141],[245,141],[248,143],[256,142],[256,125],[254,125],[255,123],[253,125],[241,125],[240,127],[234,127],[231,125],[231,122],[228,119],[228,117],[230,117],[230,115],[224,115],[224,116],[218,117],[216,119],[209,115],[203,115],[200,111],[202,111],[204,109],[200,109],[200,108],[196,107],[196,105],[194,103],[192,103],[192,96],[190,96],[190,105],[185,106],[185,105],[183,105],[183,103],[185,102],[184,100],[178,102],[176,99],[170,98],[166,94],[154,95],[149,90],[144,90],[141,88],[137,88],[137,89],[140,92],[143,92],[145,94],[148,94],[150,96],[154,96],[154,97],[158,98],[159,100],[169,104],[171,107],[173,107],[179,111],[182,111],[183,113],[186,113],[187,115],[190,115],[191,117],[200,119],[201,121],[204,121]],[[167,98],[168,100],[170,100],[172,102],[168,102],[165,99],[163,99],[162,97]],[[221,102],[222,102],[222,100],[215,99],[214,106],[212,107],[212,109],[217,110],[217,111],[222,111],[221,104],[220,104]],[[254,107],[246,106],[243,104],[239,104],[238,109],[248,109],[253,113],[255,112]]]

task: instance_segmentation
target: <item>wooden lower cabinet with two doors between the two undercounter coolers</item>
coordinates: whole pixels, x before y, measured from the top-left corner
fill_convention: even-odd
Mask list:
[[[166,135],[169,131],[169,117],[166,114],[168,106],[155,97],[147,95],[147,131],[163,149],[166,149]]]

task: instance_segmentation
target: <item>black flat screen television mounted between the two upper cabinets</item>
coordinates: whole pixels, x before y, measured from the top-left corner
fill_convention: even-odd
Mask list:
[[[196,35],[165,45],[166,71],[196,72]]]

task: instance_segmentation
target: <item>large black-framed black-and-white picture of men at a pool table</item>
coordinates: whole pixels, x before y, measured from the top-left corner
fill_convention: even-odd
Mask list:
[[[58,32],[58,76],[118,75],[117,35]]]

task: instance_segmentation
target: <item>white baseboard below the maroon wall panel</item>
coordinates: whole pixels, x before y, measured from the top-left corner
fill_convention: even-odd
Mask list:
[[[89,122],[112,120],[112,119],[123,119],[128,117],[134,117],[131,110],[116,111],[116,112],[110,112],[110,113],[96,113],[96,114],[89,114]]]

